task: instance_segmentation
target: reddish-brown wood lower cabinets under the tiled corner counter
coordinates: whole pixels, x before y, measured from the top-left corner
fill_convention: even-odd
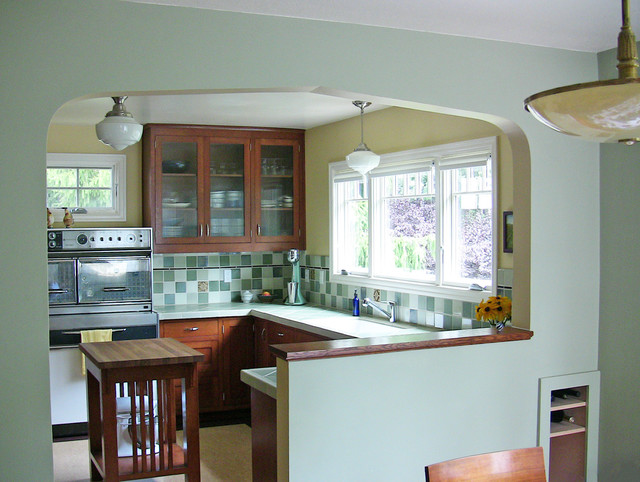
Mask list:
[[[329,339],[251,316],[164,320],[160,336],[175,338],[205,356],[197,365],[201,412],[248,408],[251,395],[240,370],[275,366],[269,345]],[[176,404],[181,410],[179,397]]]

